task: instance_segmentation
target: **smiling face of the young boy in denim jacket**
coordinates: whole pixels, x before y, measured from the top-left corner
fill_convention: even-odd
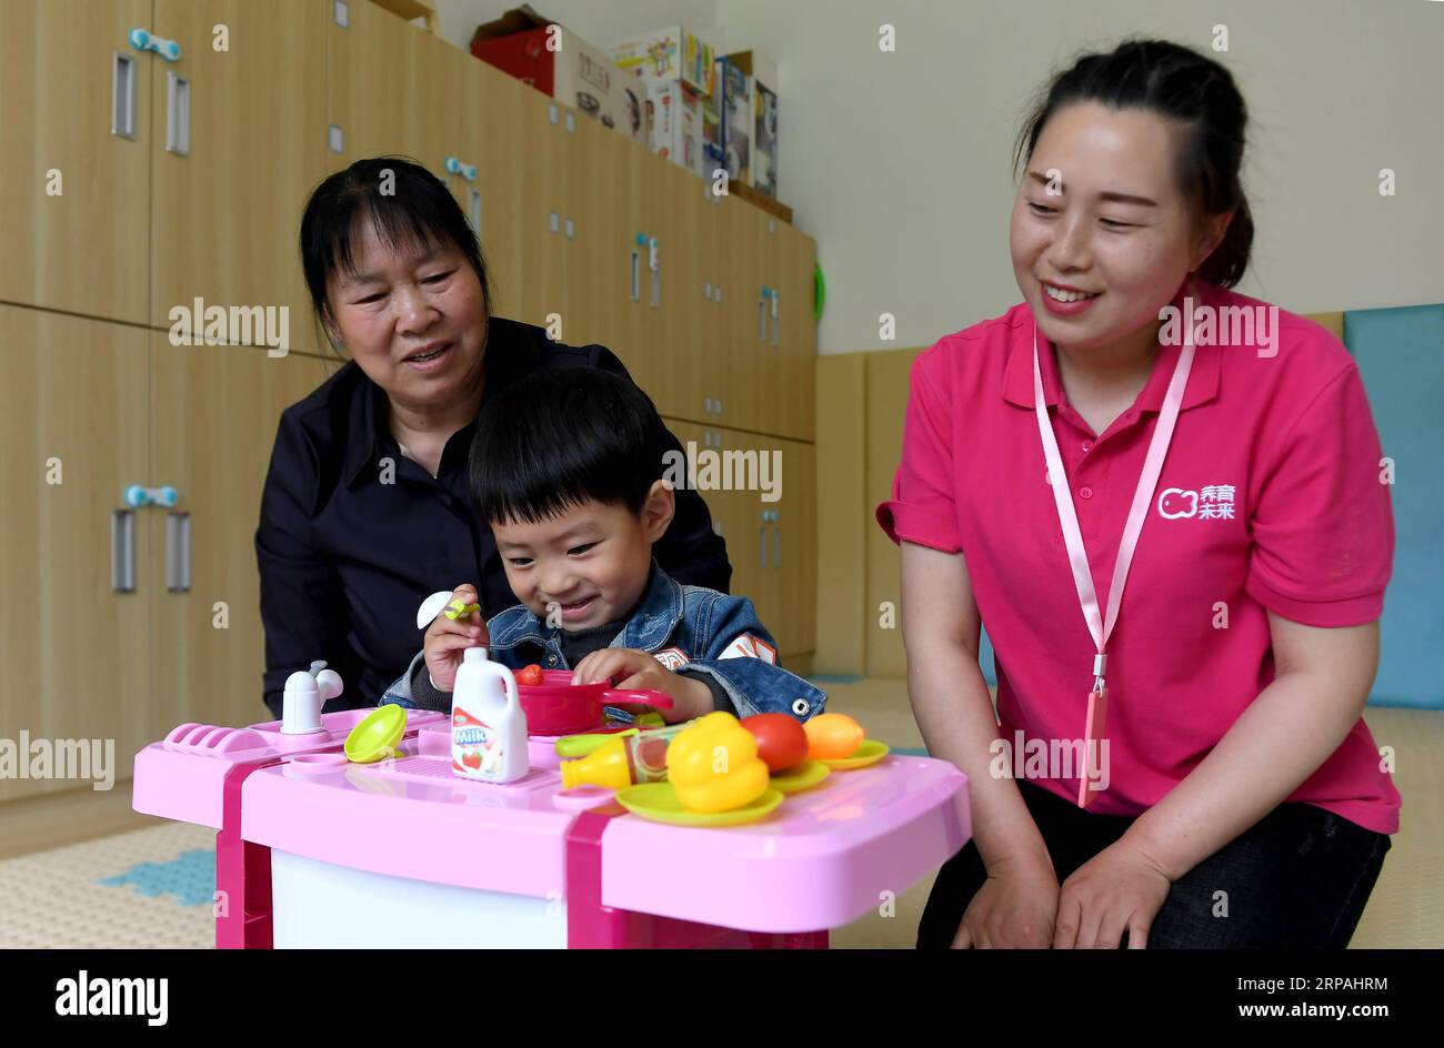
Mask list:
[[[536,524],[492,521],[491,533],[517,599],[540,619],[559,605],[562,629],[576,632],[637,606],[651,570],[651,546],[674,511],[674,492],[657,481],[638,514],[619,502],[588,499]]]

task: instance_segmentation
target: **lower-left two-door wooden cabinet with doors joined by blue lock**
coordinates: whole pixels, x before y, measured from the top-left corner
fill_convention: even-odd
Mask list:
[[[335,362],[16,306],[0,331],[0,738],[111,739],[120,780],[179,723],[264,720],[260,495],[282,411]],[[131,508],[130,485],[178,499]],[[0,800],[79,785],[7,778]]]

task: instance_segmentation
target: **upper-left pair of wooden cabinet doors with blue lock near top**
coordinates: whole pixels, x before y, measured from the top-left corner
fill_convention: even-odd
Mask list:
[[[204,326],[201,299],[245,322],[227,338],[284,331],[292,348],[313,346],[295,230],[326,165],[328,10],[7,0],[0,297],[188,332]],[[136,49],[131,30],[179,56]],[[270,328],[256,322],[266,309]]]

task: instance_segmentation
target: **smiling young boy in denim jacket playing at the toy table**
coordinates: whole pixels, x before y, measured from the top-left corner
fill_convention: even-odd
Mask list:
[[[653,560],[674,510],[664,432],[647,394],[598,368],[542,371],[497,394],[477,423],[471,489],[521,603],[484,626],[438,615],[383,704],[451,710],[462,652],[484,644],[513,670],[664,691],[669,723],[820,713],[826,696],[777,664],[751,601],[679,585]],[[475,586],[453,598],[475,603]]]

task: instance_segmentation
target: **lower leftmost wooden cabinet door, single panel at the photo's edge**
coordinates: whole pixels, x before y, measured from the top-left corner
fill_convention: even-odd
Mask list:
[[[136,588],[116,590],[111,511],[149,476],[147,335],[0,305],[0,739],[110,741],[113,774],[127,778],[155,730],[143,580],[156,559],[137,511]],[[0,800],[78,787],[88,782],[0,778]]]

